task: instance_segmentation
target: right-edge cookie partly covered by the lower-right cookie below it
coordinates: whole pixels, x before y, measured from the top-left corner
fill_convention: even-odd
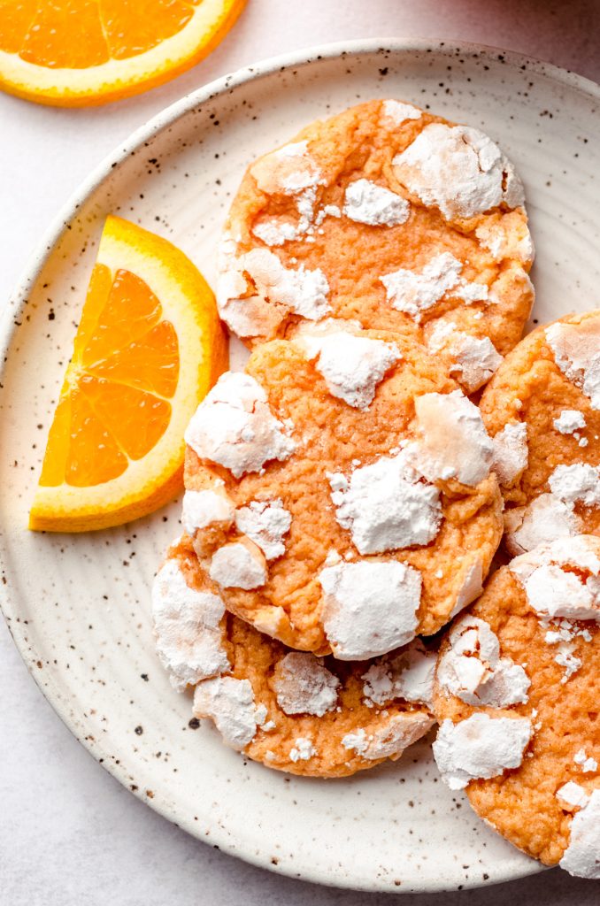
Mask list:
[[[480,410],[496,448],[509,553],[600,535],[600,312],[530,333],[498,368]]]

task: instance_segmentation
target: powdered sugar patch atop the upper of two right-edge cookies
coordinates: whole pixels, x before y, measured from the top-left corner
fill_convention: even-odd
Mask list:
[[[556,365],[569,381],[584,391],[592,409],[600,409],[600,319],[583,323],[550,324],[547,344]]]

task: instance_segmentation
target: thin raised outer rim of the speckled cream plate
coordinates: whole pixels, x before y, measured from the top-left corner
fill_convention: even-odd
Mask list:
[[[600,84],[585,76],[579,75],[576,72],[566,70],[561,66],[556,66],[554,63],[547,63],[537,57],[529,56],[526,53],[507,51],[490,44],[465,42],[453,38],[402,39],[389,37],[330,42],[266,57],[257,63],[249,63],[234,72],[228,72],[218,79],[200,85],[194,91],[183,95],[179,100],[172,101],[158,113],[154,114],[150,120],[143,123],[138,129],[133,130],[125,140],[121,141],[111,150],[111,152],[100,160],[88,176],[74,189],[63,205],[59,207],[57,213],[51,219],[49,226],[44,230],[41,240],[34,246],[32,253],[27,257],[24,269],[16,281],[15,288],[6,301],[2,313],[0,313],[0,380],[2,379],[8,361],[7,352],[10,349],[16,333],[17,325],[15,324],[15,320],[18,320],[19,315],[23,313],[24,307],[27,304],[29,290],[40,275],[48,258],[53,254],[54,246],[60,241],[73,218],[77,217],[79,208],[82,207],[82,205],[92,196],[92,193],[100,187],[104,179],[111,174],[113,169],[120,167],[123,161],[129,158],[132,151],[140,149],[145,141],[151,140],[162,130],[167,129],[175,121],[179,120],[179,118],[188,114],[189,111],[198,108],[202,104],[208,103],[218,95],[229,92],[244,84],[258,81],[277,71],[292,67],[305,67],[314,63],[321,63],[324,60],[343,58],[344,56],[361,56],[375,53],[410,54],[427,52],[440,53],[442,55],[451,54],[452,56],[456,55],[456,53],[478,54],[482,57],[494,58],[495,61],[498,61],[498,56],[501,56],[510,66],[520,67],[527,65],[529,71],[537,72],[566,87],[591,95],[600,102]],[[2,404],[0,403],[0,410],[2,408]],[[4,558],[1,551],[0,565],[4,565]],[[185,818],[182,819],[178,814],[169,812],[167,805],[162,805],[162,803],[156,799],[149,800],[141,795],[141,793],[132,792],[128,785],[124,768],[121,769],[120,765],[113,764],[111,759],[105,757],[106,752],[104,752],[102,745],[99,746],[97,742],[92,745],[88,739],[80,736],[76,722],[69,714],[69,708],[66,701],[63,701],[60,696],[53,695],[52,684],[44,686],[38,681],[33,670],[33,664],[27,657],[27,641],[25,638],[26,627],[23,627],[21,631],[16,629],[16,627],[22,627],[22,623],[16,622],[16,618],[19,614],[18,603],[16,599],[13,603],[11,598],[12,595],[10,594],[9,586],[4,583],[0,584],[0,611],[3,613],[8,631],[15,642],[15,647],[24,661],[30,676],[34,679],[38,689],[40,689],[44,695],[44,699],[46,699],[58,717],[61,718],[65,727],[69,729],[73,737],[75,737],[82,747],[88,751],[94,760],[111,776],[114,776],[121,786],[124,786],[131,795],[135,795],[144,802],[145,805],[149,805],[153,811],[160,814],[163,818],[166,818],[171,824],[176,824],[181,827],[200,842],[206,842],[203,837],[198,834],[198,827],[194,827],[192,822],[188,822]],[[228,855],[235,856],[245,863],[266,869],[269,872],[298,879],[298,874],[294,867],[288,866],[286,863],[274,865],[271,863],[270,856],[267,852],[259,853],[250,850],[242,852],[237,850],[235,840],[232,842],[227,831],[221,830],[218,827],[218,824],[211,825],[210,840],[213,845],[218,844],[218,848],[221,851]],[[505,874],[500,874],[500,876],[495,878],[493,883],[497,884],[518,880],[527,877],[528,875],[546,870],[547,866],[537,863],[532,859],[530,864],[525,864],[522,871],[519,870],[516,872],[514,869],[507,871]],[[300,880],[340,889],[364,892],[392,892],[388,887],[378,885],[376,882],[373,883],[373,881],[367,881],[365,879],[364,883],[359,883],[355,879],[330,879],[324,877],[318,870],[311,870],[310,868],[305,868],[305,871],[300,876]],[[469,879],[469,881],[464,883],[463,889],[479,888],[483,886],[489,886],[489,882],[480,882],[479,879],[473,879],[473,882],[471,882]],[[443,882],[440,884],[431,880],[423,880],[423,882],[418,884],[413,882],[410,887],[407,886],[406,888],[396,889],[395,892],[425,893],[453,890],[455,890],[454,886],[449,887]]]

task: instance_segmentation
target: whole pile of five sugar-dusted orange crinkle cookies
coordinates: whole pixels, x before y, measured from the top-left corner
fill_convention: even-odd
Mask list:
[[[189,424],[153,612],[227,745],[347,776],[437,722],[452,789],[598,877],[600,313],[519,343],[532,260],[508,159],[410,104],[256,160],[218,280],[250,354]]]

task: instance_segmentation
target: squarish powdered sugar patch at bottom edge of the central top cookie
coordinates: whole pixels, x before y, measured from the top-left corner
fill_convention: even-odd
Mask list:
[[[414,638],[421,573],[383,561],[341,563],[319,574],[322,621],[336,658],[366,660]]]

